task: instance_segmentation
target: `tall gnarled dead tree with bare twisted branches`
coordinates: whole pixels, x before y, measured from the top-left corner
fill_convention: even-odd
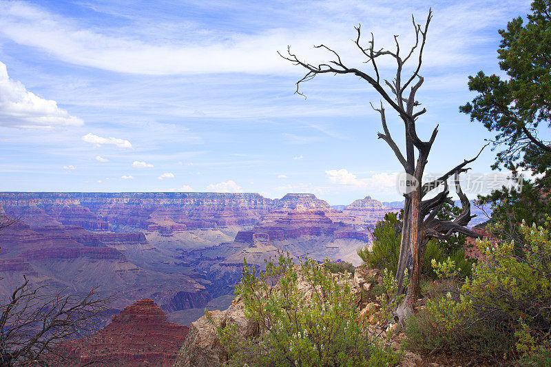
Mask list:
[[[366,59],[365,63],[371,66],[371,70],[368,72],[358,70],[355,67],[347,67],[335,50],[323,44],[314,47],[324,49],[333,56],[332,59],[325,63],[311,64],[302,61],[296,54],[291,52],[290,47],[287,48],[287,54],[280,54],[282,58],[291,61],[294,65],[300,65],[306,69],[306,74],[296,83],[296,93],[302,95],[302,92],[300,92],[300,84],[311,80],[318,74],[352,74],[359,76],[369,83],[371,87],[375,88],[386,105],[389,105],[397,112],[399,118],[404,123],[406,150],[405,154],[402,154],[402,151],[399,149],[388,130],[383,101],[381,101],[380,107],[375,108],[372,105],[373,109],[379,112],[382,121],[383,132],[378,134],[378,138],[384,140],[391,147],[400,164],[404,167],[404,171],[407,174],[406,176],[416,184],[413,186],[413,189],[404,193],[404,225],[402,227],[402,242],[400,245],[399,264],[396,273],[399,293],[404,293],[404,291],[406,291],[404,302],[397,309],[397,316],[400,321],[415,308],[415,304],[419,297],[419,277],[421,274],[424,250],[428,240],[430,240],[430,238],[445,239],[453,235],[453,233],[463,233],[473,238],[479,237],[477,233],[465,227],[473,216],[470,215],[470,203],[461,191],[458,177],[459,174],[466,171],[466,165],[474,161],[480,155],[480,152],[475,158],[464,160],[464,162],[459,163],[446,172],[446,174],[437,178],[437,180],[422,183],[428,154],[430,153],[430,148],[433,146],[438,133],[437,125],[430,138],[424,141],[417,136],[415,129],[415,121],[426,112],[425,108],[419,109],[421,103],[415,100],[415,94],[424,81],[423,77],[419,74],[419,70],[422,65],[426,34],[431,18],[432,11],[429,10],[426,22],[424,26],[422,26],[415,23],[415,19],[412,16],[413,28],[415,30],[415,44],[406,50],[405,54],[401,53],[402,50],[400,49],[398,36],[394,36],[394,51],[384,50],[382,48],[377,50],[375,48],[373,33],[371,34],[371,41],[364,44],[362,42],[360,25],[355,27],[357,36],[355,37],[354,43],[357,49],[362,52],[362,56]],[[394,59],[396,63],[396,74],[392,81],[388,81],[380,75],[379,67],[377,67],[377,59],[380,57]],[[408,76],[403,76],[402,71],[404,70],[404,65],[411,60],[415,62],[413,72]],[[484,149],[484,147],[482,149]],[[448,191],[448,179],[450,178],[454,178],[455,180],[455,190],[461,200],[462,211],[455,220],[441,220],[437,218],[437,212],[441,206],[446,202],[453,204]],[[430,191],[437,188],[443,188],[443,191],[439,192],[433,198],[424,200],[424,197]],[[404,290],[402,283],[406,269],[410,270],[410,286],[407,290]]]

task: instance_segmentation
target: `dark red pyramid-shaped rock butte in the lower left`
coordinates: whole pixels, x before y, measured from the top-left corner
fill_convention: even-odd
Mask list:
[[[153,300],[145,299],[112,316],[111,324],[94,335],[63,348],[75,366],[92,361],[109,366],[172,366],[187,331],[187,326],[168,322]]]

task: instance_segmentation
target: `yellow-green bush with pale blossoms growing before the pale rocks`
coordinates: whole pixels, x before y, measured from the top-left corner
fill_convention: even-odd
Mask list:
[[[244,340],[215,324],[236,366],[388,366],[396,363],[367,327],[357,322],[356,295],[345,275],[332,275],[306,258],[294,266],[289,255],[267,263],[260,275],[244,264],[236,295],[260,336]],[[277,280],[275,286],[268,284]]]

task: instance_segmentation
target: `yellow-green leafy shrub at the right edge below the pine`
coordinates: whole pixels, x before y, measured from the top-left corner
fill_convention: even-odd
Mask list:
[[[551,330],[551,218],[519,230],[526,242],[478,242],[485,258],[461,289],[475,311],[522,319],[534,331]]]

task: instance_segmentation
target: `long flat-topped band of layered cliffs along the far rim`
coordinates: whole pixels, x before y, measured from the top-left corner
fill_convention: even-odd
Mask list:
[[[79,225],[93,231],[113,227],[151,231],[251,226],[274,209],[329,209],[308,193],[271,200],[258,193],[0,193],[6,213],[31,227]]]

